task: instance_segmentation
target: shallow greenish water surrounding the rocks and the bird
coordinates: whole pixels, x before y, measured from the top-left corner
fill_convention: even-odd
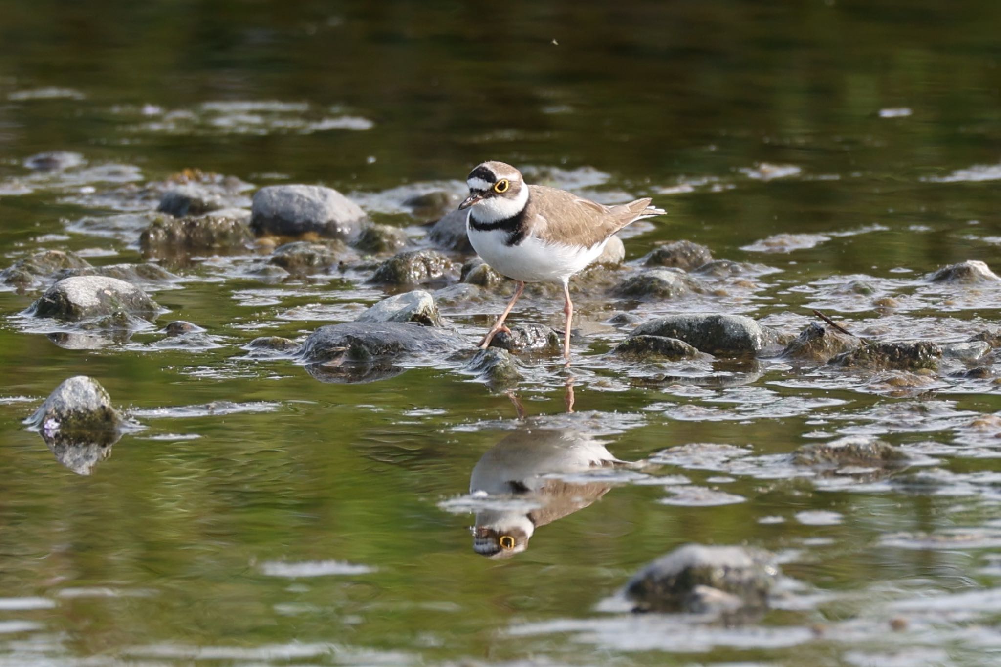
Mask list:
[[[881,341],[996,324],[1001,283],[927,276],[1001,268],[1001,5],[43,1],[3,15],[0,268],[39,248],[139,261],[159,199],[142,188],[183,169],[323,183],[420,243],[425,220],[402,200],[460,192],[483,159],[600,201],[655,197],[669,216],[626,235],[630,261],[685,238],[749,266],[668,301],[581,294],[573,371],[526,360],[525,420],[464,359],[335,384],[243,349],[354,319],[383,296],[361,270],[269,283],[259,253],[164,262],[181,280],[149,289],[169,312],[112,337],[25,318],[37,291],[0,291],[0,665],[997,661],[996,351],[929,375],[602,353],[628,333],[607,323],[622,310],[795,334],[820,309]],[[24,164],[51,150],[80,158]],[[527,294],[518,321],[560,323],[556,292]],[[442,314],[471,344],[506,298]],[[175,319],[209,338],[173,345],[160,329]],[[90,475],[21,424],[77,374],[134,422]],[[530,510],[484,507],[470,472],[538,428],[644,463],[562,473],[600,497],[525,553],[482,558],[474,513]],[[901,445],[912,465],[791,461],[845,436]],[[689,542],[778,553],[773,609],[736,627],[624,611],[630,576]]]

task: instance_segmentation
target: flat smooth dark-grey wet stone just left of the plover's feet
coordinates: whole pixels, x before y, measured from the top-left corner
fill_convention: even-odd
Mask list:
[[[407,354],[445,352],[465,341],[453,331],[403,322],[343,322],[320,327],[296,356],[307,364],[366,362]]]

